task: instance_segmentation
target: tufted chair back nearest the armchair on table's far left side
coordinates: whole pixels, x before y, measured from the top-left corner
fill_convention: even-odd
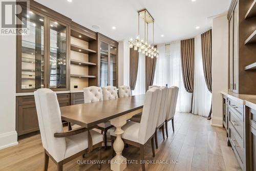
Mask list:
[[[100,87],[91,86],[83,88],[84,103],[102,101],[102,90]]]

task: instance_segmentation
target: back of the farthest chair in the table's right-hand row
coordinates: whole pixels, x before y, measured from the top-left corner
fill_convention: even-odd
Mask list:
[[[170,118],[174,117],[175,111],[176,111],[176,104],[179,94],[179,88],[176,86],[169,88],[169,98],[168,98],[168,106],[167,106],[167,114],[166,114],[166,120],[169,120]]]

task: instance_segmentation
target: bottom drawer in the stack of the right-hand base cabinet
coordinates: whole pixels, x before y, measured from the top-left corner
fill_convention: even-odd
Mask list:
[[[244,162],[243,140],[240,138],[232,125],[229,125],[229,141],[234,149],[235,154],[241,162]],[[242,166],[241,166],[242,167]]]

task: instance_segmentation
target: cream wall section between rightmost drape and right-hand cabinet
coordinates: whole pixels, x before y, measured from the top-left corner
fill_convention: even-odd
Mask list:
[[[228,20],[226,14],[212,20],[212,117],[222,126],[222,95],[228,91]]]

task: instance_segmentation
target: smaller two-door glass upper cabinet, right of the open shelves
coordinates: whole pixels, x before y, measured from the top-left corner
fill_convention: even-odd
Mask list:
[[[99,86],[118,87],[118,42],[98,34]]]

